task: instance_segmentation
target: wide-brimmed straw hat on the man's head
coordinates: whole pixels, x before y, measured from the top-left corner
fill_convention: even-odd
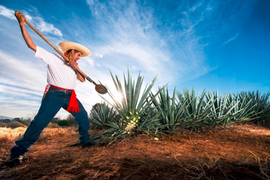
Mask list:
[[[62,52],[67,52],[67,50],[69,49],[75,49],[82,53],[81,57],[89,56],[92,54],[89,49],[87,49],[85,46],[82,46],[81,44],[78,44],[78,43],[65,41],[65,42],[59,43],[58,47]]]

